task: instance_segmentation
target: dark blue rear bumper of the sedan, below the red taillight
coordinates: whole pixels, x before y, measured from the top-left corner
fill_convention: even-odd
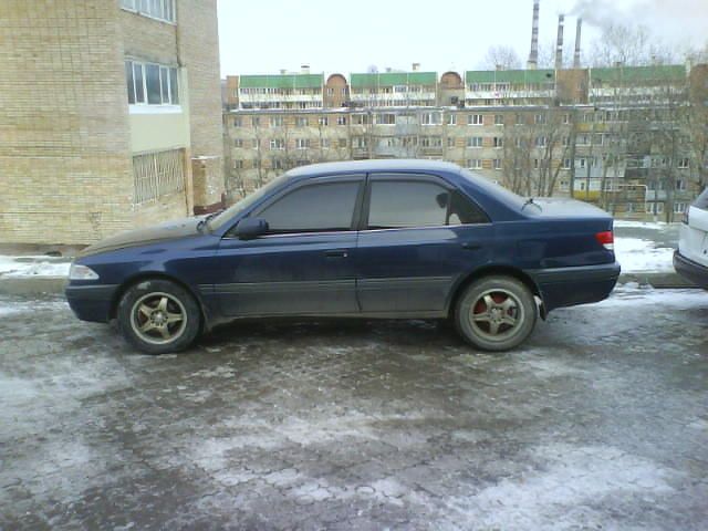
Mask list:
[[[576,268],[527,271],[539,287],[546,312],[556,308],[587,304],[607,299],[620,278],[620,264],[602,263]]]

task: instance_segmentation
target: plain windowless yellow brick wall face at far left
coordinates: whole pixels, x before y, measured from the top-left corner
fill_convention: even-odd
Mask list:
[[[115,0],[0,2],[0,241],[83,243],[129,227]]]

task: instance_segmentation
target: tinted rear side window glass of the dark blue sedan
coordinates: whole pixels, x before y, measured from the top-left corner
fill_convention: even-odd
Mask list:
[[[487,222],[459,191],[426,181],[375,180],[371,185],[369,229],[440,227]]]

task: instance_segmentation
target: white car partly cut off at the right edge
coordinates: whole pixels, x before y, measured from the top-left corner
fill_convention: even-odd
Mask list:
[[[674,269],[708,290],[708,188],[684,214]]]

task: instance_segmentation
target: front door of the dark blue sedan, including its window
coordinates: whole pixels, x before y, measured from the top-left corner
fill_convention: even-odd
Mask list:
[[[357,313],[354,214],[363,187],[363,176],[295,184],[251,214],[268,221],[267,235],[227,235],[215,282],[223,314]]]

